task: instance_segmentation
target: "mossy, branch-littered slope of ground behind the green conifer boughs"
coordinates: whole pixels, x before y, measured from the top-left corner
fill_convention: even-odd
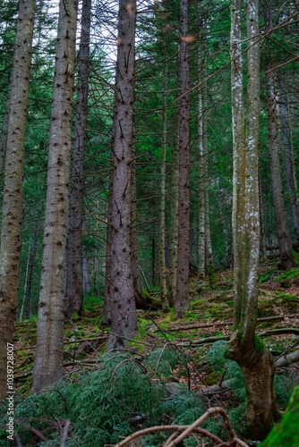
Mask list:
[[[214,288],[201,294],[192,278],[190,298],[191,310],[184,319],[176,320],[173,311],[139,311],[139,334],[129,343],[128,350],[138,361],[149,351],[177,351],[185,362],[170,368],[169,389],[176,392],[180,386],[188,387],[204,397],[207,408],[234,408],[237,398],[234,391],[227,388],[226,367],[215,366],[208,354],[215,342],[227,341],[232,332],[232,271],[218,272]],[[98,358],[106,350],[109,330],[101,325],[101,312],[100,299],[90,297],[86,299],[81,316],[75,316],[65,325],[64,367],[71,381],[78,380],[82,370],[94,370]],[[276,361],[298,349],[298,327],[299,268],[282,272],[274,264],[261,266],[257,333]],[[35,343],[36,318],[18,323],[14,349],[15,385],[19,395],[30,392]],[[290,390],[299,382],[299,359],[278,368],[278,374],[284,375],[288,382],[285,401],[278,405],[283,413]]]

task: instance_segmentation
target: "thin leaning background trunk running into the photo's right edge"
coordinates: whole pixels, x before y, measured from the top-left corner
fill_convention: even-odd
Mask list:
[[[279,82],[279,109],[280,109],[280,121],[281,130],[285,148],[285,160],[286,160],[286,181],[288,187],[288,193],[290,196],[290,203],[293,216],[293,224],[297,240],[299,240],[299,202],[297,198],[297,181],[295,177],[295,163],[294,153],[292,146],[291,131],[287,119],[287,101],[286,101],[286,89],[283,75],[278,76]]]

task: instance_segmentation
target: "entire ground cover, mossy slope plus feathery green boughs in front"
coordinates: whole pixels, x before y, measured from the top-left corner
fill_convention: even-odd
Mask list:
[[[121,352],[107,352],[109,329],[101,325],[102,302],[86,297],[81,316],[65,325],[64,380],[39,395],[30,394],[36,318],[18,323],[15,445],[257,445],[246,428],[241,370],[224,357],[232,331],[232,271],[219,272],[216,279],[214,288],[201,294],[191,279],[192,308],[184,319],[175,320],[173,310],[139,311],[138,337]],[[153,298],[158,300],[158,292]],[[276,361],[281,415],[299,384],[298,323],[299,268],[282,272],[261,267],[257,334]],[[3,407],[1,446],[12,445],[5,415]],[[201,423],[188,434],[199,418]],[[157,429],[149,429],[153,426]],[[175,432],[169,426],[176,426]],[[139,437],[125,440],[139,430]],[[182,441],[177,441],[179,435]]]

